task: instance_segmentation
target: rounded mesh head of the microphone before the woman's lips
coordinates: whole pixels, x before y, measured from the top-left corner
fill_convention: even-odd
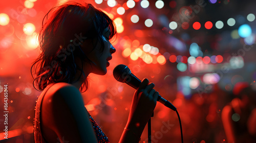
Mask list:
[[[113,70],[113,76],[119,82],[125,82],[130,74],[131,70],[124,64],[117,65]]]

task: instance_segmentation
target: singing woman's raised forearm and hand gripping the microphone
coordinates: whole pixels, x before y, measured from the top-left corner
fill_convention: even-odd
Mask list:
[[[135,91],[131,111],[119,143],[139,142],[140,136],[156,107],[159,93],[155,91],[154,83],[148,84],[143,79]]]

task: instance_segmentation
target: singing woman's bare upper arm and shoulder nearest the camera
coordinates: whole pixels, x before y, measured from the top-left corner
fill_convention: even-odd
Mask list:
[[[60,139],[70,142],[97,142],[92,124],[79,90],[70,85],[59,88],[51,102],[54,127]]]

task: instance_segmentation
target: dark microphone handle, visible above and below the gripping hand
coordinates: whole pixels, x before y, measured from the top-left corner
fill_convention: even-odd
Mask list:
[[[129,74],[126,75],[126,80],[124,81],[126,84],[132,86],[133,88],[137,89],[140,86],[141,80],[139,80],[134,74],[131,73],[131,71],[129,72]],[[160,96],[160,94],[158,95],[157,101],[162,103],[164,106],[176,111],[177,108],[170,103],[169,101],[167,101],[166,99],[164,99],[162,96]]]

